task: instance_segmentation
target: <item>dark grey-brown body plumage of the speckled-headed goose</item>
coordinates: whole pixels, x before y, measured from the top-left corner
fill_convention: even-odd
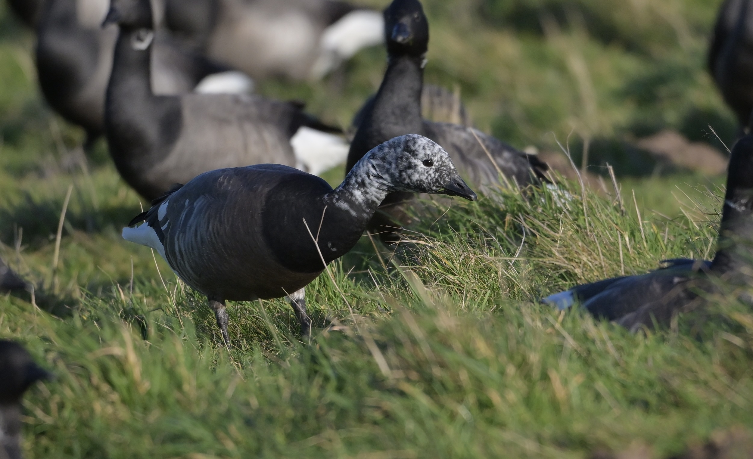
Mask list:
[[[316,175],[288,166],[218,169],[155,202],[145,215],[147,224],[130,231],[153,229],[162,245],[155,248],[186,284],[207,296],[279,298],[305,287],[324,269],[304,219],[315,231],[324,214],[328,224],[322,226],[319,247],[327,262],[361,236],[340,231],[362,226],[358,216],[335,205],[325,211],[324,196],[331,191]],[[232,254],[232,263],[218,254]]]

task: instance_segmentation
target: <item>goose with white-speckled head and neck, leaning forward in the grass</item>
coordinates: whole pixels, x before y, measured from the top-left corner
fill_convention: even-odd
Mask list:
[[[307,335],[304,287],[325,269],[322,258],[346,254],[387,193],[401,190],[476,199],[442,147],[404,135],[373,148],[335,190],[277,164],[206,172],[157,199],[123,239],[157,250],[207,296],[225,342],[227,299],[287,296]]]

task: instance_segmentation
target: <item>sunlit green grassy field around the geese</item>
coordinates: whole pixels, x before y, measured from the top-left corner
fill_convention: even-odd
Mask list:
[[[576,162],[587,138],[599,173],[614,145],[664,128],[721,149],[711,124],[733,142],[704,70],[718,2],[425,6],[427,81],[459,85],[477,125],[517,147],[553,150],[573,132]],[[76,153],[82,133],[36,90],[32,35],[2,8],[0,255],[38,285],[39,307],[0,297],[0,336],[56,375],[26,398],[27,457],[575,458],[636,445],[668,457],[753,428],[745,305],[711,299],[669,330],[630,335],[536,302],[712,256],[724,178],[617,167],[623,208],[611,187],[566,181],[527,199],[429,203],[398,251],[364,237],[310,285],[311,342],[282,299],[239,302],[227,351],[205,299],[120,239],[139,197],[104,144]],[[384,61],[365,50],[322,83],[260,91],[347,126]]]

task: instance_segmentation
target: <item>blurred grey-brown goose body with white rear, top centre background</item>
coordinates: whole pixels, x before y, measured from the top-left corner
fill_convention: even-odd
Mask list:
[[[333,0],[166,0],[165,23],[256,79],[318,80],[384,40],[381,14]]]

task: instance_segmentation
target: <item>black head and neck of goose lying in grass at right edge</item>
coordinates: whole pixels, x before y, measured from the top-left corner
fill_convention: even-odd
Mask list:
[[[734,278],[753,278],[753,135],[741,138],[730,156],[712,269]]]

